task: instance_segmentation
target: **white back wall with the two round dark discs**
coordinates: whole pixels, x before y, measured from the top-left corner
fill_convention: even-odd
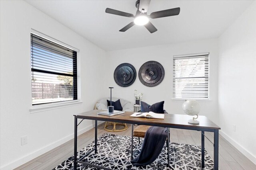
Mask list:
[[[206,115],[209,119],[218,123],[217,110],[217,80],[218,80],[218,41],[217,39],[207,39],[176,43],[169,45],[159,45],[135,49],[124,49],[107,52],[109,60],[110,75],[107,86],[113,86],[113,96],[124,98],[134,102],[134,89],[144,93],[142,101],[154,104],[164,100],[164,109],[168,113],[183,114],[182,104],[184,101],[176,102],[172,100],[172,59],[174,55],[210,52],[210,101],[200,102],[200,115]],[[122,88],[116,84],[113,78],[115,68],[121,63],[132,64],[137,71],[140,66],[147,61],[158,61],[165,70],[164,80],[155,87],[144,86],[138,76],[129,87]],[[106,94],[108,95],[108,94]]]

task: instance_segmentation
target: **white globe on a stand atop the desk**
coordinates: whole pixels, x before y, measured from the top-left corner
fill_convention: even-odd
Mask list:
[[[193,117],[193,119],[188,120],[188,123],[199,124],[199,121],[196,119],[198,118],[198,113],[200,112],[200,104],[196,100],[186,100],[182,105],[182,109],[187,115],[196,115],[196,117]]]

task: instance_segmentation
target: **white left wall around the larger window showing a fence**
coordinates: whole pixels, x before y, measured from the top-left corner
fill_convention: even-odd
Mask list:
[[[24,1],[0,3],[0,162],[1,168],[12,169],[73,138],[73,114],[93,109],[103,97],[99,82],[106,52]],[[31,28],[80,49],[82,105],[29,112]],[[82,132],[92,127],[92,121],[79,126]],[[28,136],[27,145],[21,146],[22,136]]]

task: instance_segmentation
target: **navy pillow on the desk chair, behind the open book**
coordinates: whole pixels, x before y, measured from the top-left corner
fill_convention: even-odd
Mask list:
[[[152,104],[151,106],[146,102],[140,102],[141,112],[164,113],[164,101]]]

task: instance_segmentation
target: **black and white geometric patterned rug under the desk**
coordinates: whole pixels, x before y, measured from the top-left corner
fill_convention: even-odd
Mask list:
[[[140,153],[143,139],[138,143],[134,138],[134,158]],[[170,143],[170,166],[167,164],[167,147],[164,148],[158,158],[150,165],[134,167],[130,163],[131,137],[104,134],[98,138],[98,153],[92,152],[84,158],[85,162],[104,166],[113,170],[200,170],[201,169],[201,147],[194,145]],[[94,148],[94,142],[78,152],[78,158]],[[73,170],[74,156],[71,156],[54,170]],[[84,164],[77,166],[78,170],[100,170]],[[205,170],[213,169],[213,161],[205,151]]]

